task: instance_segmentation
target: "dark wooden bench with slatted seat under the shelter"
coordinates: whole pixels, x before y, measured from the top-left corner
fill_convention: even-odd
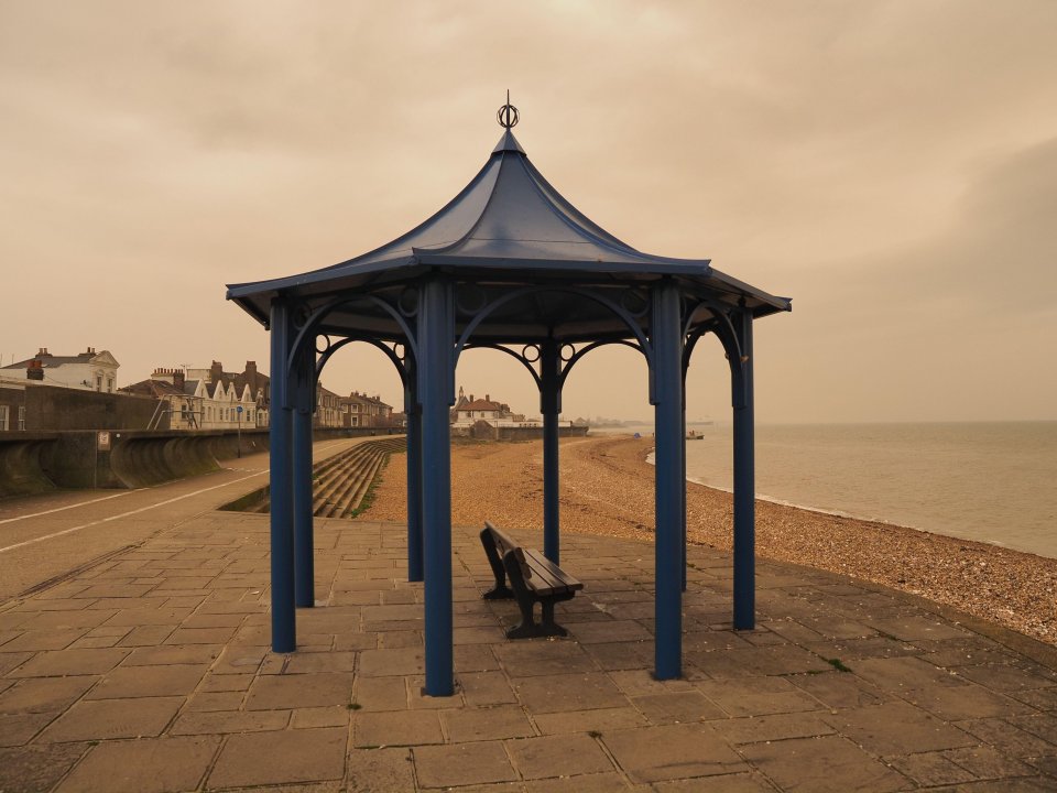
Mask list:
[[[554,621],[554,605],[571,599],[584,584],[538,551],[521,547],[487,521],[481,545],[495,575],[495,588],[484,593],[484,599],[514,598],[521,609],[521,624],[508,629],[506,638],[567,636],[565,628]],[[533,615],[537,602],[542,611],[538,623]]]

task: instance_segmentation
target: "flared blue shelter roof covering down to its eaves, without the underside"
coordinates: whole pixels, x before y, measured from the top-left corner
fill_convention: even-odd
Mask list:
[[[788,311],[789,301],[717,270],[707,259],[642,253],[595,224],[535,169],[506,129],[484,166],[445,207],[373,251],[298,275],[229,284],[228,298],[265,322],[279,294],[312,301],[443,269],[469,280],[644,284],[677,276],[688,286],[745,301],[756,315]]]

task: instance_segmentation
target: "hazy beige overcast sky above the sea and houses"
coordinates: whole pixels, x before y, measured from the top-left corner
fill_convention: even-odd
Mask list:
[[[530,159],[640,250],[793,297],[761,422],[1057,419],[1057,2],[0,0],[3,362],[268,368],[225,284],[349,259]],[[353,345],[327,388],[402,406]],[[629,350],[565,413],[650,416]],[[497,352],[457,381],[538,400]],[[691,419],[729,415],[719,345]]]

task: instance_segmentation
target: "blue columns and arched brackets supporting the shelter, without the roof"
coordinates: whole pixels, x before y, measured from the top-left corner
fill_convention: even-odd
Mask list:
[[[473,343],[480,323],[501,305],[527,294],[575,293],[612,309],[635,341],[607,339],[563,356],[555,339],[530,345],[530,359],[491,343]],[[752,383],[752,312],[745,306],[701,300],[684,315],[684,295],[665,278],[651,290],[647,333],[636,316],[592,290],[526,286],[508,292],[472,313],[461,334],[455,327],[455,285],[436,275],[422,282],[416,305],[403,311],[408,336],[405,354],[377,338],[355,334],[323,349],[309,341],[330,311],[350,302],[330,301],[324,308],[298,315],[296,304],[272,303],[272,647],[296,649],[295,606],[314,605],[312,520],[312,413],[319,373],[342,346],[360,340],[381,349],[394,362],[405,388],[407,415],[407,575],[425,582],[426,685],[432,696],[454,693],[451,604],[450,445],[448,410],[455,398],[455,366],[468,347],[491,347],[513,356],[532,373],[544,416],[544,553],[560,561],[558,417],[562,390],[573,367],[607,344],[623,344],[646,358],[650,397],[656,410],[656,645],[660,680],[682,674],[682,593],[686,588],[686,372],[698,339],[715,333],[727,351],[731,370],[734,416],[734,563],[733,621],[739,630],[755,623],[754,593],[754,454]],[[400,315],[374,295],[361,295]],[[700,309],[707,312],[701,314]],[[403,316],[414,321],[414,329]],[[295,319],[295,317],[298,321]],[[647,340],[649,339],[649,340]],[[421,350],[421,363],[417,358]],[[318,358],[316,355],[318,354]],[[536,363],[537,366],[533,366]]]

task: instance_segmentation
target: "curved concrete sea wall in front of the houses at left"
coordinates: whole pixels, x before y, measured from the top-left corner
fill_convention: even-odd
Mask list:
[[[400,434],[399,428],[320,428],[316,441]],[[6,433],[0,498],[57,488],[138,488],[219,470],[221,460],[269,449],[268,430]]]

